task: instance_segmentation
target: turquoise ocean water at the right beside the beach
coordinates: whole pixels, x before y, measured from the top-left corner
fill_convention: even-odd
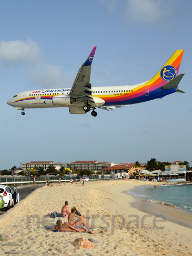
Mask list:
[[[192,184],[138,186],[128,191],[133,196],[151,202],[175,206],[192,214]]]

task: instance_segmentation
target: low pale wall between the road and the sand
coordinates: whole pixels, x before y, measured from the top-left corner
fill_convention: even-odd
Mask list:
[[[15,217],[16,215],[20,214],[23,209],[30,203],[30,198],[38,192],[42,187],[37,188],[35,191],[29,194],[25,199],[18,202],[13,208],[10,208],[7,212],[0,216],[0,228],[3,227],[5,222],[9,221],[11,218]]]

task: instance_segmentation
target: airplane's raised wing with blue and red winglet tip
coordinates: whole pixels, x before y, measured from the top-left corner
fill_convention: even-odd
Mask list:
[[[91,64],[94,58],[94,54],[96,51],[95,46],[88,58],[85,60],[83,65],[80,67],[78,74],[76,76],[75,82],[71,88],[69,95],[76,99],[78,104],[82,102],[83,104],[89,104],[89,101],[95,102],[92,97],[92,90],[90,84],[90,75],[91,75]],[[88,105],[89,106],[89,105]]]

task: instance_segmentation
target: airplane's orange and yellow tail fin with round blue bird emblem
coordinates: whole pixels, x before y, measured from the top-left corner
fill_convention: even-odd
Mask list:
[[[178,75],[179,67],[183,57],[184,50],[177,50],[174,54],[168,59],[168,61],[162,66],[162,68],[157,72],[157,74],[148,81],[145,85],[151,87],[152,90],[161,87],[162,89],[172,89],[171,83],[170,88],[165,88],[165,84],[170,83]],[[183,74],[184,75],[184,74]],[[183,77],[182,75],[182,77]],[[180,77],[180,78],[182,78]],[[178,83],[181,81],[177,81]],[[176,81],[175,81],[176,82]],[[176,82],[176,83],[177,83]],[[178,86],[177,83],[177,86]],[[176,88],[176,87],[174,87]]]

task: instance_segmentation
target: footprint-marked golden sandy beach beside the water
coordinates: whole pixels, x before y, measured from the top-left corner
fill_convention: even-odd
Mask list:
[[[78,182],[42,187],[30,204],[1,228],[0,234],[10,236],[9,241],[0,241],[1,255],[192,255],[192,215],[184,215],[183,220],[183,212],[165,205],[141,205],[123,193],[144,184],[150,182],[89,181],[85,186]],[[82,215],[91,217],[86,221],[98,228],[97,234],[45,229],[58,220],[47,214],[60,213],[66,200],[69,209],[76,206]],[[80,237],[95,239],[94,248],[75,249],[71,242]]]

